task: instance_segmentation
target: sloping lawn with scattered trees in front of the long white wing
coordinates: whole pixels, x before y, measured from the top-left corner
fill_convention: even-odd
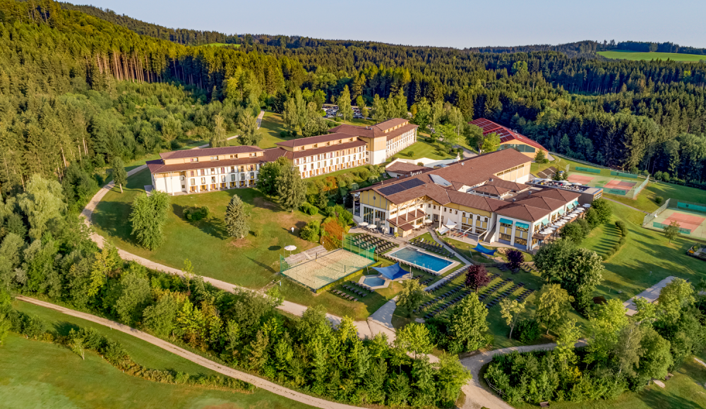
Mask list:
[[[299,238],[299,230],[309,221],[323,216],[309,216],[298,210],[292,213],[282,211],[255,189],[172,196],[172,212],[164,227],[164,244],[154,251],[141,247],[131,236],[129,215],[133,200],[148,184],[148,171],[131,176],[125,193],[121,194],[119,189],[107,193],[93,214],[93,225],[98,233],[118,248],[179,269],[184,267],[184,260],[189,259],[196,274],[249,288],[262,288],[273,280],[282,279],[281,290],[287,300],[303,305],[323,305],[334,315],[364,319],[376,310],[376,305],[382,305],[350,303],[328,292],[315,295],[309,288],[282,278],[279,260],[280,255],[285,254],[283,248],[296,245],[297,251],[303,251],[316,247],[316,243]],[[235,240],[225,233],[225,209],[232,195],[236,194],[251,214],[251,230],[259,228],[260,236],[251,233]],[[184,209],[196,206],[208,206],[210,216],[198,222],[186,221]],[[290,231],[292,227],[294,234]]]

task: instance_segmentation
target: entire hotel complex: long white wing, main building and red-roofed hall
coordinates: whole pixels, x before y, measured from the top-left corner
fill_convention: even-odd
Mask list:
[[[530,163],[537,149],[525,136],[485,119],[474,121],[484,133],[501,135],[503,149],[433,169],[393,161],[386,169],[393,180],[354,193],[354,218],[385,233],[408,236],[431,224],[532,250],[554,223],[580,202],[578,191],[530,185]],[[260,167],[286,157],[302,178],[383,164],[417,141],[417,126],[395,118],[373,126],[340,125],[327,135],[254,146],[191,149],[160,154],[148,161],[152,185],[171,194],[246,188],[256,184]],[[505,146],[506,145],[506,146]],[[512,149],[510,149],[512,148]]]

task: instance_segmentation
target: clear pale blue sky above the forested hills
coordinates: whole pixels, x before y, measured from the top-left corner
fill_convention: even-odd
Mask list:
[[[88,1],[148,23],[227,34],[303,35],[457,48],[583,39],[669,41],[706,47],[706,1],[702,0]]]

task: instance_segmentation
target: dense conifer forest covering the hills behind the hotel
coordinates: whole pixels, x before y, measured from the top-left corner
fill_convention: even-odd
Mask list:
[[[402,95],[413,112],[421,98],[455,106],[578,159],[706,180],[703,63],[284,36],[193,47],[51,0],[3,0],[0,11],[4,193],[33,173],[63,179],[72,164],[92,173],[208,138],[217,114],[234,130],[244,111],[281,111],[297,90],[330,102],[345,86],[367,102]]]

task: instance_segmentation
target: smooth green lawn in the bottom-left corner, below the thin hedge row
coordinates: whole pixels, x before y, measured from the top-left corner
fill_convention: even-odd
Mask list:
[[[4,408],[310,408],[262,389],[233,393],[146,381],[123,374],[95,353],[82,360],[68,348],[16,334],[1,350]]]

